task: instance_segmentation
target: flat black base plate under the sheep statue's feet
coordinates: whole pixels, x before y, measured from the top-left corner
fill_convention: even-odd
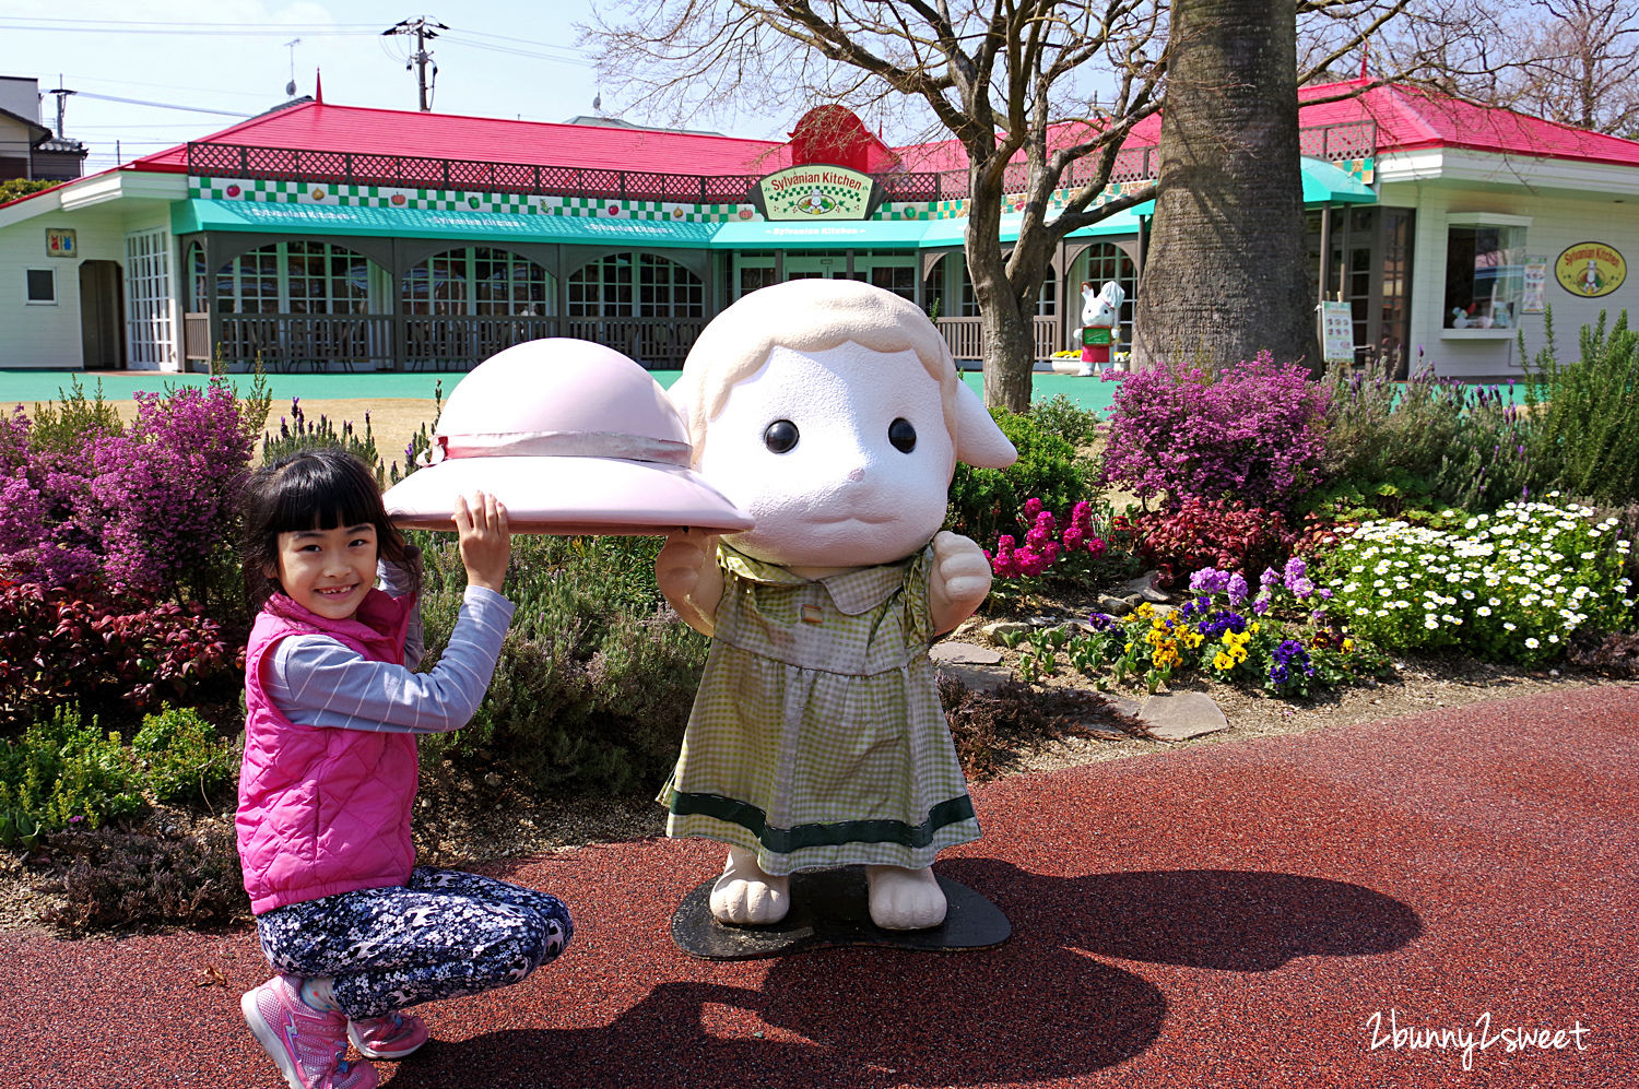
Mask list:
[[[941,925],[929,930],[880,930],[870,922],[864,866],[792,874],[792,909],[785,919],[765,927],[718,922],[711,914],[713,878],[679,904],[672,915],[672,942],[701,960],[757,960],[838,945],[956,953],[995,948],[1011,937],[1013,927],[995,904],[965,884],[938,879],[949,902]]]

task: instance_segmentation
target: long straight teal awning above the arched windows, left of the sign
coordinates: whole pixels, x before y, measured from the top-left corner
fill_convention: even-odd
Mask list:
[[[438,237],[470,242],[620,242],[703,249],[715,223],[603,219],[526,211],[433,211],[428,208],[334,208],[249,200],[187,200],[170,206],[170,229]]]

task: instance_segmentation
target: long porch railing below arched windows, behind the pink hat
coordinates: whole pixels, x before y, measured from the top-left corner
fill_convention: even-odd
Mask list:
[[[703,318],[564,318],[447,314],[218,314],[184,316],[188,360],[261,360],[280,370],[470,370],[513,344],[541,337],[595,341],[651,370],[677,370]],[[213,350],[215,349],[215,350]]]

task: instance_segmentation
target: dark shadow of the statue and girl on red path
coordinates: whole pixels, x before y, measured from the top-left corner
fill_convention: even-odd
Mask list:
[[[1051,878],[972,858],[941,863],[941,873],[990,892],[1013,938],[977,953],[788,956],[756,991],[662,983],[603,1027],[429,1045],[388,1084],[872,1089],[1057,1079],[1123,1063],[1165,1025],[1160,989],[1098,958],[1274,971],[1296,956],[1385,953],[1421,933],[1400,901],[1296,874]]]

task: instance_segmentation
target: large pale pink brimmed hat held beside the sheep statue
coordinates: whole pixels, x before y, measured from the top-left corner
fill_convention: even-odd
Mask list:
[[[426,467],[384,498],[400,526],[452,529],[456,496],[488,491],[518,532],[751,529],[688,468],[688,432],[649,372],[590,341],[529,341],[449,393]]]

